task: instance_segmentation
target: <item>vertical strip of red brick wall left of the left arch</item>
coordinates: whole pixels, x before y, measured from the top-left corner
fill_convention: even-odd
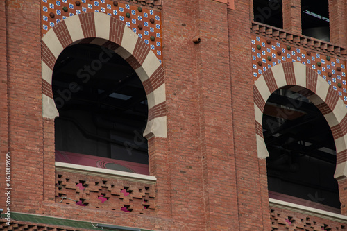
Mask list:
[[[43,187],[40,1],[6,1],[6,15],[11,209],[34,212],[42,202]],[[6,76],[1,74],[1,78]],[[1,91],[3,93],[6,94],[6,91]],[[1,155],[3,151],[1,148]]]

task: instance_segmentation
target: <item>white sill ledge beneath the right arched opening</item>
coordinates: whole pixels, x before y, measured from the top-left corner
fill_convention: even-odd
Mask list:
[[[341,214],[335,214],[333,212],[328,212],[321,209],[315,209],[313,207],[307,207],[303,205],[297,205],[294,203],[289,203],[282,200],[276,200],[273,198],[269,198],[269,203],[270,203],[270,206],[278,207],[279,209],[286,209],[289,211],[298,212],[298,213],[306,214],[309,216],[316,216],[321,219],[327,219],[327,220],[336,221],[339,223],[347,223],[347,216],[344,216]]]

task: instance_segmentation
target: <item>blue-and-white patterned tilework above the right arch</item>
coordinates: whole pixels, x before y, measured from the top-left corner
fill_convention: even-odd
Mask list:
[[[337,94],[347,105],[346,60],[334,57],[330,57],[330,60],[327,60],[327,55],[323,53],[310,51],[310,55],[307,55],[307,49],[291,44],[289,50],[285,43],[270,40],[271,43],[267,44],[266,40],[269,40],[269,38],[251,35],[254,83],[264,71],[277,64],[282,62],[301,62],[303,65],[314,69],[314,71],[327,80],[328,84],[332,85],[333,89],[337,91]],[[278,55],[278,51],[281,52],[280,55]],[[261,66],[258,65],[259,61],[262,62]],[[338,71],[337,67],[341,67],[341,71]],[[331,77],[328,76],[328,73],[331,74]],[[338,87],[339,83],[341,83],[341,87]]]

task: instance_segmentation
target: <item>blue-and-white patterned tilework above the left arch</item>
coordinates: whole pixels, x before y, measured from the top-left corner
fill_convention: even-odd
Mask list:
[[[62,19],[83,14],[84,12],[104,12],[124,22],[126,26],[137,33],[146,44],[149,44],[153,53],[157,55],[159,62],[162,62],[162,22],[160,12],[147,8],[142,8],[142,12],[139,12],[138,6],[131,6],[120,2],[118,2],[118,6],[114,6],[111,0],[81,0],[80,3],[80,6],[76,6],[74,0],[42,0],[42,37]],[[64,7],[67,8],[67,12],[63,10]],[[53,18],[49,16],[50,13],[54,14]],[[130,14],[129,18],[126,17],[126,13]],[[153,24],[150,22],[151,19],[154,19]],[[139,30],[139,25],[143,26],[142,30]],[[151,36],[155,38],[154,41],[151,41]]]

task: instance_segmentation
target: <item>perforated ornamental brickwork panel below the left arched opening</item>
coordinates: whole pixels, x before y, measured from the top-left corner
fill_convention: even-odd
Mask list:
[[[153,214],[155,185],[56,171],[56,203]]]

